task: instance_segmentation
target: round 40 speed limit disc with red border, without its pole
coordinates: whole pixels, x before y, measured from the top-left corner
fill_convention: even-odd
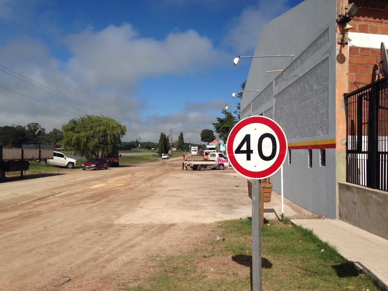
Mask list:
[[[227,152],[230,164],[238,173],[250,179],[263,179],[283,165],[287,138],[274,120],[249,116],[230,131]]]

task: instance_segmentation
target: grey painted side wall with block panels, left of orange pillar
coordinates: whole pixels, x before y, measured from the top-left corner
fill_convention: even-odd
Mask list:
[[[255,55],[294,56],[252,59],[245,90],[261,91],[243,94],[241,118],[273,118],[289,143],[335,138],[335,19],[336,0],[306,0],[261,28]],[[265,73],[275,69],[284,72]],[[284,196],[335,218],[335,149],[326,149],[325,167],[319,166],[319,149],[313,149],[312,168],[307,149],[291,152],[291,165],[284,164]],[[271,182],[280,193],[280,170]]]

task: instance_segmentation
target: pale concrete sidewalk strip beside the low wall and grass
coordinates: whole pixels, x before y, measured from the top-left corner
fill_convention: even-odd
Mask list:
[[[388,240],[336,219],[292,219],[296,225],[314,230],[323,241],[388,290]]]

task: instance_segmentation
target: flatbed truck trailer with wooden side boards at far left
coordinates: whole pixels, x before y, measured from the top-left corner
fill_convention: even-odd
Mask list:
[[[52,145],[26,144],[21,149],[0,148],[0,179],[5,177],[5,172],[23,171],[29,169],[29,161],[42,161],[54,157]]]

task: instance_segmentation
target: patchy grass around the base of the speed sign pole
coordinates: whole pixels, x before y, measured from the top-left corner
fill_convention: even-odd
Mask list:
[[[263,290],[327,291],[348,286],[383,290],[311,230],[277,221],[269,223],[262,230]],[[248,291],[251,251],[251,221],[225,221],[211,230],[201,248],[184,255],[155,258],[151,275],[126,290]]]

